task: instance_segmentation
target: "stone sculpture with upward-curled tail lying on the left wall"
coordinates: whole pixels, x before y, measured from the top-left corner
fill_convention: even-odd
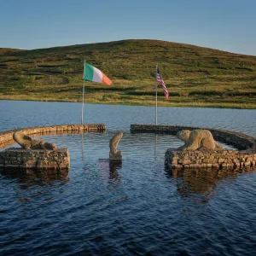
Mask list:
[[[21,131],[16,131],[13,135],[13,138],[16,143],[20,144],[20,146],[24,149],[47,149],[47,150],[55,150],[57,146],[55,143],[46,143],[40,140],[32,140],[31,137],[22,133]]]

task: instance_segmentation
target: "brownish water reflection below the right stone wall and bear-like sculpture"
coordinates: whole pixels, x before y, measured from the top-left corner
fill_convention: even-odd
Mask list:
[[[166,177],[172,178],[172,183],[175,183],[177,192],[182,197],[193,197],[202,202],[207,202],[214,196],[214,190],[221,180],[235,179],[239,173],[249,171],[252,171],[252,169],[166,170]]]

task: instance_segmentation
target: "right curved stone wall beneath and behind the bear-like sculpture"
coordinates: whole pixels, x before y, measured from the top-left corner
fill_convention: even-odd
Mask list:
[[[170,169],[218,168],[236,169],[254,167],[256,165],[256,138],[240,132],[225,131],[212,128],[201,128],[179,125],[131,125],[131,132],[156,132],[177,135],[177,131],[207,129],[215,140],[230,144],[236,150],[185,150],[177,151],[168,148],[166,151],[166,167]]]

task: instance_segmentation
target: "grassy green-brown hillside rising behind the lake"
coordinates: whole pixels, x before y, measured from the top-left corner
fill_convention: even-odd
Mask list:
[[[256,56],[156,40],[0,49],[0,99],[80,102],[84,60],[113,80],[86,81],[85,102],[154,105],[157,63],[160,106],[256,108]]]

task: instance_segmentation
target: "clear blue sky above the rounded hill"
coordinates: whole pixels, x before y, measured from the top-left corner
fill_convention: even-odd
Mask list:
[[[0,48],[157,39],[256,55],[256,0],[0,0]]]

